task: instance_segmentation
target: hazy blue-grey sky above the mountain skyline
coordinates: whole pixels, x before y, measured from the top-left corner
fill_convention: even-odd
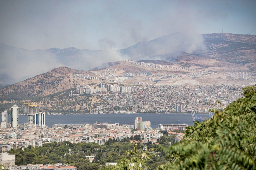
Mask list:
[[[0,43],[117,49],[174,32],[256,35],[256,1],[0,1]]]

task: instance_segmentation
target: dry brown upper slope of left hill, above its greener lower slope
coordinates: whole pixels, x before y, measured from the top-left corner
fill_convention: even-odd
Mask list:
[[[90,74],[91,72],[58,67],[44,74],[18,82],[0,90],[1,101],[29,100],[36,96],[46,96],[66,91],[80,83],[93,83],[91,80],[72,79],[72,74]]]

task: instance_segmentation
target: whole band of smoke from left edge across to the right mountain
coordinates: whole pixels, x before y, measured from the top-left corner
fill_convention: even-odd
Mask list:
[[[110,38],[98,41],[101,50],[80,50],[73,47],[31,51],[2,44],[0,74],[9,75],[20,81],[60,66],[90,70],[102,63],[105,63],[102,66],[105,68],[108,62],[124,59],[175,61],[181,52],[193,53],[201,48],[202,41],[203,38],[199,34],[175,33],[149,42],[141,42],[123,50],[118,50],[116,42]]]

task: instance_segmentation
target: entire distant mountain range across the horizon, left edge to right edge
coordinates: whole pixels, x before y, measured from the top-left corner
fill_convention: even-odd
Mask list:
[[[92,70],[101,68],[100,65],[103,63],[113,63],[122,59],[177,62],[203,58],[250,64],[254,71],[256,35],[173,33],[147,42],[138,42],[115,51],[115,55],[114,57],[113,53],[102,50],[81,50],[75,47],[27,50],[1,43],[0,74],[22,80],[20,78],[39,75],[60,66]]]

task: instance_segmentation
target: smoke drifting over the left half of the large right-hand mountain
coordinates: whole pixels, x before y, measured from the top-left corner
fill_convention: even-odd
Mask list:
[[[141,42],[121,53],[134,60],[167,60],[175,61],[182,52],[194,53],[204,47],[201,34],[174,33],[156,38],[149,42]]]

